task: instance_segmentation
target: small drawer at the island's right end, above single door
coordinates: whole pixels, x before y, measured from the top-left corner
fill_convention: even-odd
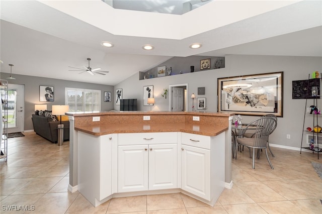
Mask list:
[[[210,149],[210,137],[190,133],[181,133],[181,144]]]

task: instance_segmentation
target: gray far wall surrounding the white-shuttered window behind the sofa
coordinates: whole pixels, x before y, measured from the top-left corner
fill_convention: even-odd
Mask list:
[[[1,79],[6,79],[9,73],[1,73]],[[111,85],[93,84],[85,82],[75,82],[60,79],[51,79],[27,75],[13,74],[15,80],[9,79],[11,84],[25,85],[25,123],[24,130],[33,130],[31,115],[34,114],[35,104],[47,104],[47,109],[51,110],[51,105],[65,104],[65,87],[71,88],[86,88],[101,90],[101,111],[109,111],[113,109],[114,87]],[[54,86],[54,101],[40,102],[39,101],[39,85]],[[104,91],[112,92],[112,101],[104,102]]]

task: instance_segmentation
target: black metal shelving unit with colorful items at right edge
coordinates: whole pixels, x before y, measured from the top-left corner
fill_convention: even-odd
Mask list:
[[[312,112],[310,114],[310,113],[308,113],[307,109],[308,108],[313,108],[312,106],[316,106],[316,108],[318,108],[317,100],[321,97],[320,94],[319,94],[319,90],[316,91],[316,95],[312,95],[311,90],[309,88],[309,85],[311,85],[310,84],[310,81],[311,81],[311,82],[313,82],[313,85],[318,86],[319,83],[320,83],[320,79],[321,78],[310,79],[310,75],[308,75],[308,81],[307,81],[307,87],[306,87],[306,100],[305,100],[304,118],[303,118],[302,140],[301,140],[301,149],[300,149],[300,154],[302,153],[302,149],[311,150],[313,153],[316,152],[317,153],[317,159],[319,159],[319,153],[322,152],[322,149],[318,146],[318,138],[319,138],[319,135],[322,136],[322,133],[321,132],[320,133],[314,132],[314,127],[318,126],[318,118],[320,116],[322,116],[322,115],[314,114],[314,112]],[[314,84],[314,82],[315,82],[315,84]],[[310,96],[310,94],[312,96]],[[308,103],[307,102],[308,99],[313,100],[313,103],[312,103],[312,101],[309,101],[309,103]],[[304,127],[305,126],[306,116],[310,117],[309,120],[313,121],[313,123],[312,123],[313,126],[311,128],[312,129],[311,131],[306,130],[306,128]],[[318,131],[318,128],[317,128],[317,131]],[[311,149],[310,147],[303,147],[304,133],[312,133],[313,141],[314,141],[314,148],[313,149]],[[315,142],[315,136],[316,136],[316,142]]]

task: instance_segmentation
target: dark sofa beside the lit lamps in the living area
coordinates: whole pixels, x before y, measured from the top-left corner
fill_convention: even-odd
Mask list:
[[[31,119],[36,134],[40,135],[43,138],[46,138],[53,143],[57,143],[57,126],[58,124],[60,124],[60,121],[52,121],[51,118],[39,115],[32,115]],[[64,141],[69,140],[69,121],[62,121],[61,124],[64,125]]]

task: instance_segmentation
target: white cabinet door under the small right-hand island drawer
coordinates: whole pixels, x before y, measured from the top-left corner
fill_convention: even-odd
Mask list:
[[[210,150],[182,145],[182,189],[210,200]]]

